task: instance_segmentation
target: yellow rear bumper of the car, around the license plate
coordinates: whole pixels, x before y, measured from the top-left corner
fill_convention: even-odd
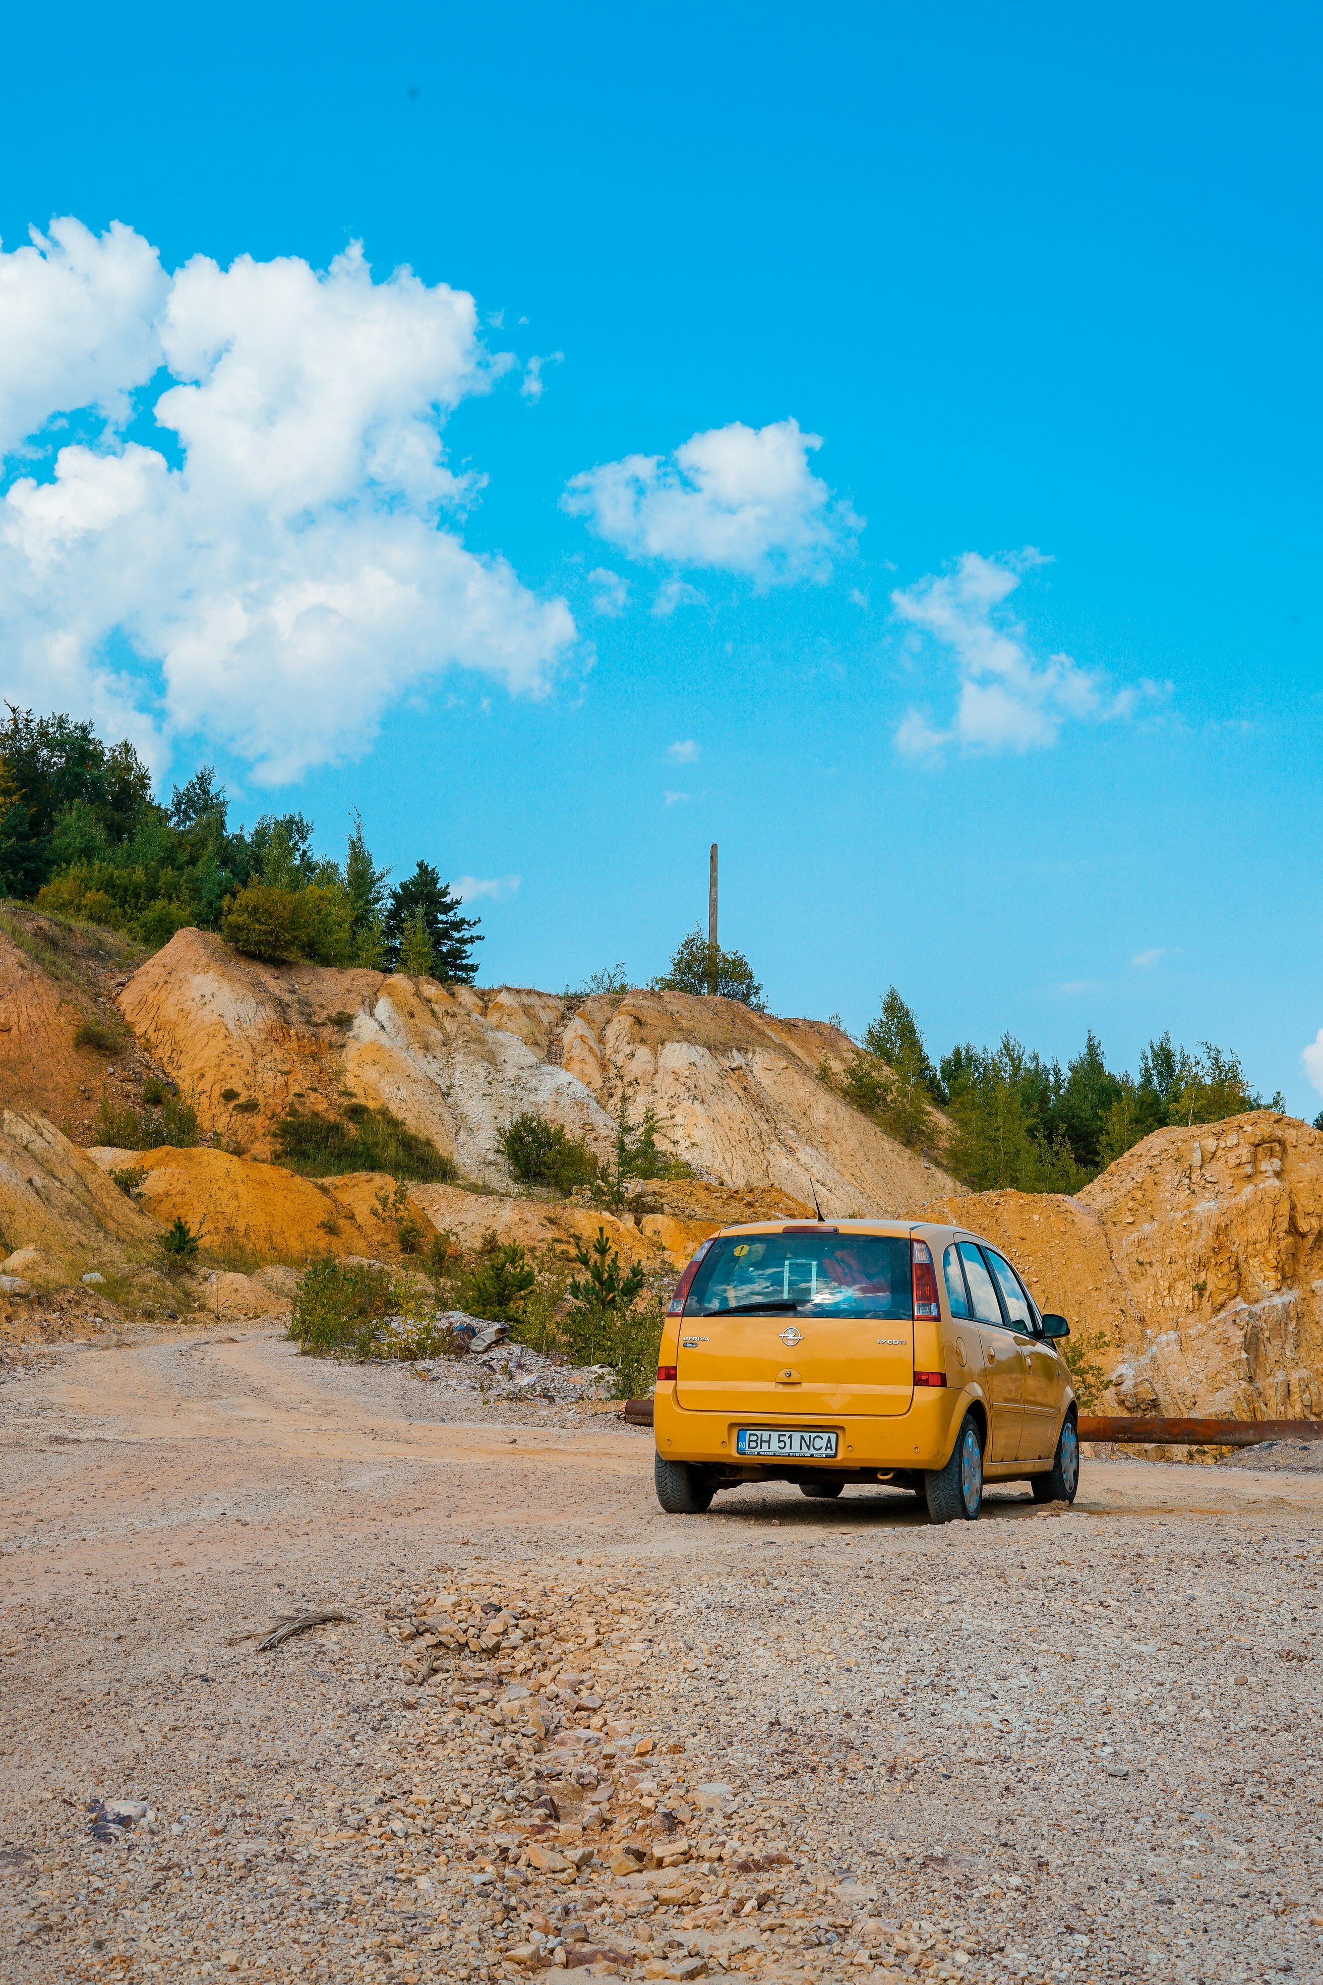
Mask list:
[[[871,1473],[940,1469],[956,1445],[964,1415],[974,1405],[984,1413],[982,1397],[940,1386],[914,1393],[908,1413],[851,1415],[841,1413],[768,1413],[754,1407],[748,1413],[692,1413],[676,1405],[674,1386],[659,1386],[653,1399],[657,1451],[666,1461],[692,1461],[716,1467],[734,1477],[758,1481],[768,1477],[795,1479],[801,1473],[841,1473],[865,1477]],[[740,1427],[821,1427],[837,1433],[833,1461],[813,1461],[811,1467],[787,1467],[783,1461],[746,1461],[736,1453]]]

